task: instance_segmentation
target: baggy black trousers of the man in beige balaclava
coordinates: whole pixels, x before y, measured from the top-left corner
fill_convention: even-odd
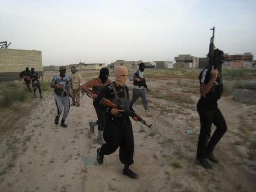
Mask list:
[[[122,164],[133,164],[134,139],[129,116],[117,118],[109,115],[103,138],[106,144],[101,146],[101,155],[110,155],[119,147],[119,160]]]

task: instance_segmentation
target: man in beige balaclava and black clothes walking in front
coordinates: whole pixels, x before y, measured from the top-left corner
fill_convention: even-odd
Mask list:
[[[123,174],[130,178],[138,178],[138,174],[129,169],[129,166],[134,162],[133,127],[129,115],[119,108],[101,105],[102,100],[106,98],[117,106],[122,105],[133,111],[130,106],[128,87],[125,85],[127,77],[127,68],[118,66],[115,70],[114,82],[105,86],[93,102],[94,106],[101,107],[108,114],[103,135],[106,143],[97,149],[97,162],[100,165],[103,164],[104,155],[114,153],[119,147],[119,160],[124,164]],[[136,117],[133,117],[133,119],[138,120]]]

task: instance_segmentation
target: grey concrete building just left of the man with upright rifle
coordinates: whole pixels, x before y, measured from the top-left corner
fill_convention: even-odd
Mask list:
[[[175,68],[188,68],[196,69],[199,68],[199,57],[194,57],[191,55],[179,55],[174,57],[176,61]]]

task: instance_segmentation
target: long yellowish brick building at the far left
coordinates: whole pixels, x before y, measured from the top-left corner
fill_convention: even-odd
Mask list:
[[[26,67],[42,73],[42,52],[0,48],[0,81],[17,80]]]

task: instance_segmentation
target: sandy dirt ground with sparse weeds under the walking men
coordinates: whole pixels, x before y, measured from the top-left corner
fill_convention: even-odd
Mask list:
[[[83,76],[84,81],[90,78]],[[256,135],[256,106],[238,103],[232,97],[218,102],[228,132],[215,150],[220,164],[205,170],[195,164],[200,126],[195,104],[199,98],[197,83],[148,80],[153,91],[148,101],[154,116],[144,118],[140,101],[134,106],[153,123],[147,128],[133,122],[135,163],[131,169],[139,174],[138,180],[123,176],[118,150],[105,156],[103,165],[97,164],[100,144],[97,134],[88,131],[89,120],[96,119],[89,97],[81,98],[80,107],[71,107],[68,127],[62,128],[54,124],[52,94],[44,93],[28,115],[20,115],[10,130],[1,134],[0,191],[255,191],[256,162],[248,158],[248,142]],[[181,93],[191,104],[180,104],[177,98],[154,98],[154,90]],[[249,132],[241,131],[245,124]],[[195,135],[188,135],[186,130],[195,131]]]

